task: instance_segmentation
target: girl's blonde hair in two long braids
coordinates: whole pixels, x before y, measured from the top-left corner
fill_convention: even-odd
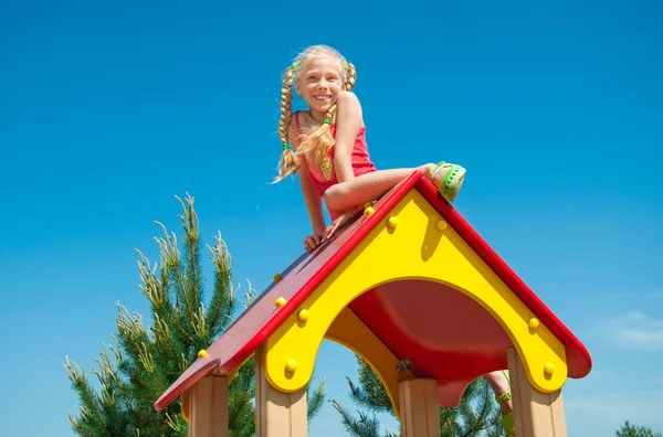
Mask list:
[[[340,53],[328,45],[312,45],[307,47],[285,70],[283,87],[281,88],[281,120],[278,122],[278,135],[283,142],[283,153],[278,163],[278,177],[276,181],[282,180],[288,174],[295,175],[299,170],[299,157],[302,156],[319,166],[329,149],[334,146],[335,141],[330,132],[330,122],[336,114],[336,104],[325,114],[325,120],[329,120],[329,122],[324,122],[322,126],[307,131],[306,138],[302,141],[296,152],[287,147],[290,142],[288,127],[292,119],[293,84],[299,78],[299,74],[305,72],[308,65],[319,57],[337,58],[343,79],[343,89],[349,92],[355,87],[355,82],[357,81],[355,65],[347,62]]]

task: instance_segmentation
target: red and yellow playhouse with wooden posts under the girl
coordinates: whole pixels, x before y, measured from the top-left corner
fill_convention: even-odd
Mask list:
[[[256,436],[306,436],[323,339],[379,374],[403,437],[440,436],[438,405],[503,369],[516,436],[566,436],[561,388],[591,370],[582,343],[417,171],[276,275],[155,407],[181,396],[190,436],[228,436],[228,383],[255,355]]]

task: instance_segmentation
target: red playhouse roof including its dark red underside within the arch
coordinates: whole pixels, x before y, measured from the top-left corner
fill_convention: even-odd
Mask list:
[[[415,171],[387,193],[376,212],[360,216],[335,238],[313,253],[304,254],[283,271],[244,313],[198,359],[155,403],[162,409],[212,369],[231,372],[249,359],[275,329],[313,292],[327,275],[359,244],[410,190],[418,190],[470,247],[514,291],[529,310],[566,348],[569,377],[583,377],[591,358],[583,344],[518,278],[461,214],[445,202],[435,188]],[[415,285],[417,299],[410,292]],[[287,303],[276,308],[284,297]],[[415,305],[414,302],[420,302]],[[421,305],[425,302],[425,305]],[[440,284],[397,281],[365,292],[350,309],[399,359],[408,359],[410,371],[420,377],[435,377],[442,405],[454,406],[474,377],[507,369],[506,349],[512,344],[497,321],[473,299]],[[427,312],[430,317],[427,317]],[[385,317],[388,315],[389,317]],[[434,334],[433,334],[434,333]]]

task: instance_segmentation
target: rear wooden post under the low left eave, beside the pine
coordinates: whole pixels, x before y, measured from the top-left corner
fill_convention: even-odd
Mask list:
[[[182,396],[189,437],[228,437],[228,377],[206,376]]]

